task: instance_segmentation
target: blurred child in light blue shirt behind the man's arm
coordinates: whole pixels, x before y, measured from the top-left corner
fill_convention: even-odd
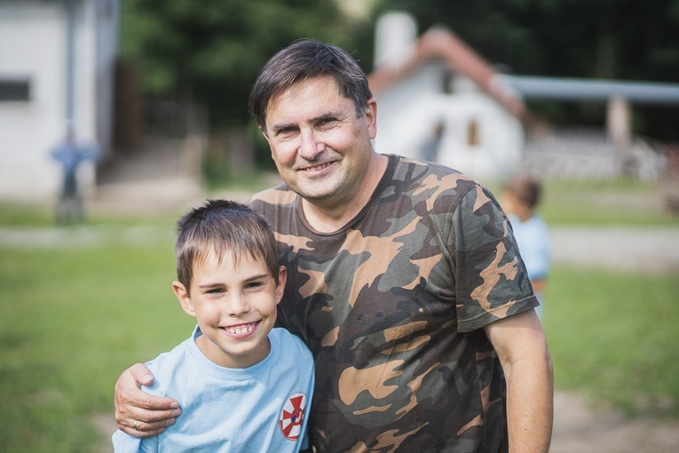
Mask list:
[[[521,258],[541,305],[535,308],[542,314],[545,283],[549,274],[549,230],[535,210],[540,202],[541,184],[538,179],[521,175],[509,179],[501,195],[501,206],[509,216]]]

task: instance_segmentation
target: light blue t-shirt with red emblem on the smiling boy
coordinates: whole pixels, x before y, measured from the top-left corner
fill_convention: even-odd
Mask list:
[[[182,413],[157,436],[138,439],[118,430],[115,452],[296,452],[307,448],[313,359],[285,329],[269,333],[271,353],[245,369],[210,362],[195,344],[196,327],[169,353],[146,365],[154,384],[142,390],[179,401]]]

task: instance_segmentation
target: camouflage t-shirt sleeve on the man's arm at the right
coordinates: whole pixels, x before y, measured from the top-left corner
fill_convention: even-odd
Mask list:
[[[539,305],[509,222],[486,188],[477,185],[462,196],[451,226],[458,330],[477,330]]]

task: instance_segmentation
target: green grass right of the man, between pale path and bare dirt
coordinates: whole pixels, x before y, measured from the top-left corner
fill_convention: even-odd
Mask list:
[[[554,266],[543,325],[557,388],[679,417],[679,275]]]

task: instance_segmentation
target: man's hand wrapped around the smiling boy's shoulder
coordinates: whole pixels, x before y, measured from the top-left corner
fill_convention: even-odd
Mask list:
[[[151,385],[154,377],[141,363],[124,370],[115,383],[115,421],[124,433],[151,437],[165,431],[181,414],[179,403],[171,398],[153,396],[140,390]]]

